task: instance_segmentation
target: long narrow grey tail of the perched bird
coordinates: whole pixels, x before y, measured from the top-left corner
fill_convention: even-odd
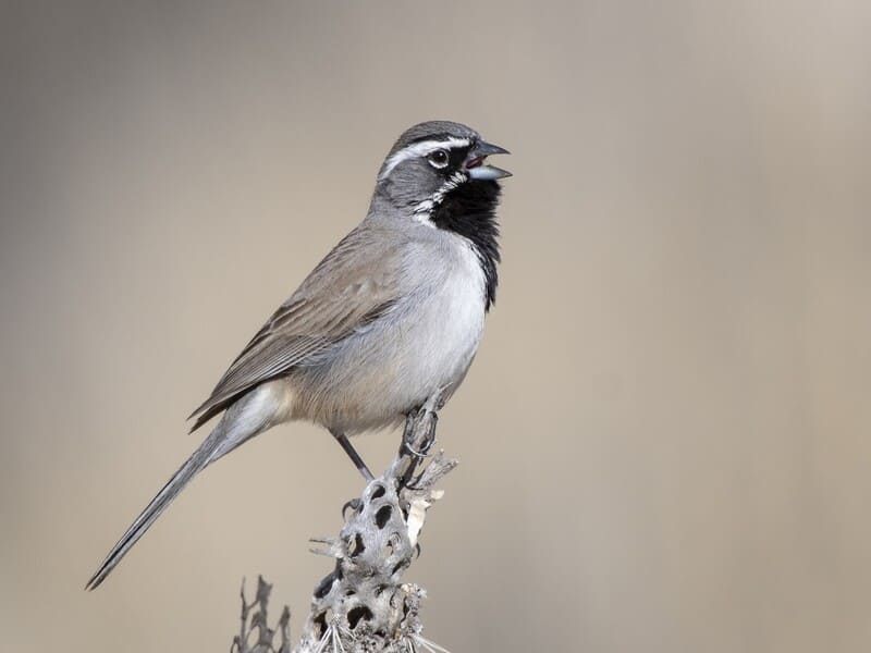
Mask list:
[[[257,395],[258,391],[250,393]],[[273,414],[257,397],[243,397],[224,414],[220,422],[214,427],[209,436],[203,441],[197,451],[179,468],[169,482],[163,485],[157,496],[151,500],[142,514],[136,518],[127,532],[106,556],[99,569],[94,572],[90,580],[85,584],[86,590],[95,590],[111,574],[121,558],[126,555],[134,544],[145,534],[145,531],[160,517],[185,485],[210,463],[213,463],[224,454],[230,453],[243,442],[254,438],[258,433],[268,429],[272,423]]]

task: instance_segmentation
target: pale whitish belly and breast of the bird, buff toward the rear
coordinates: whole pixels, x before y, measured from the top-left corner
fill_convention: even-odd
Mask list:
[[[478,349],[483,321],[480,267],[477,259],[461,259],[438,284],[289,377],[289,417],[348,434],[395,426],[434,393],[445,399],[453,394]]]

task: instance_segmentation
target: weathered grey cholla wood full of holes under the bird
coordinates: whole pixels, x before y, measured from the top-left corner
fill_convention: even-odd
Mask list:
[[[345,505],[339,537],[312,540],[321,545],[312,552],[335,558],[335,568],[315,588],[297,653],[444,651],[421,634],[420,601],[426,592],[402,582],[419,553],[427,508],[442,496],[433,486],[456,466],[443,452],[426,458],[436,439],[439,408],[441,401],[433,397],[408,416],[393,464]],[[248,604],[243,586],[242,629],[232,653],[290,653],[287,608],[279,621],[280,644],[273,643],[277,633],[267,625],[270,590],[259,579],[257,596]]]

